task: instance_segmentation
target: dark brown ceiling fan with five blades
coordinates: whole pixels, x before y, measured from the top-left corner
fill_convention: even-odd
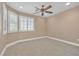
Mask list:
[[[48,5],[47,7],[42,5],[41,8],[38,8],[38,7],[35,7],[35,8],[36,8],[36,10],[35,10],[34,14],[41,13],[41,16],[44,16],[45,13],[48,13],[48,14],[53,13],[52,11],[48,11],[50,8],[52,8],[52,5]]]

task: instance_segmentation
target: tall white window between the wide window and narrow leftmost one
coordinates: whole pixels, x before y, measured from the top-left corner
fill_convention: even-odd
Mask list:
[[[8,32],[17,32],[18,17],[17,14],[15,14],[12,11],[8,11]]]

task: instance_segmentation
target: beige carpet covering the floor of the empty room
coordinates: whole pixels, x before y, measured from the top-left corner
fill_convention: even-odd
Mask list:
[[[48,38],[22,42],[7,48],[5,56],[79,56],[79,47]]]

